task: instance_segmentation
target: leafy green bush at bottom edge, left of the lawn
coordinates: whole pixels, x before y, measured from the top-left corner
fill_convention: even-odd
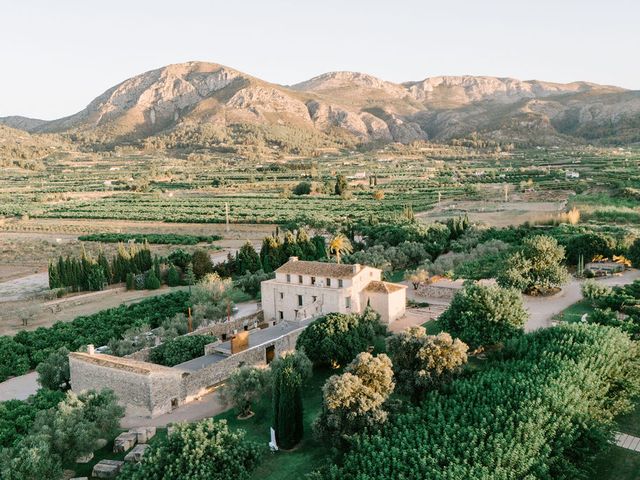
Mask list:
[[[165,439],[152,444],[139,464],[127,464],[119,479],[246,480],[265,448],[233,432],[224,420],[178,423]]]

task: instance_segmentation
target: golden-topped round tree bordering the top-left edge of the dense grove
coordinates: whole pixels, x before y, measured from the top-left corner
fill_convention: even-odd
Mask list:
[[[469,347],[448,333],[427,335],[411,327],[387,338],[398,391],[420,400],[430,389],[449,381],[467,363]]]

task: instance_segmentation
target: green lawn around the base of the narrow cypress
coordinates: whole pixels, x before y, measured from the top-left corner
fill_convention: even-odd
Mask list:
[[[267,453],[252,478],[269,480],[301,480],[310,473],[325,465],[330,455],[329,449],[313,439],[311,425],[322,407],[322,386],[326,379],[336,373],[332,370],[316,370],[303,391],[304,405],[304,438],[300,445],[291,452]],[[267,396],[254,406],[255,415],[247,420],[238,420],[233,410],[229,410],[215,418],[227,420],[233,429],[242,429],[247,438],[263,445],[269,443],[271,427],[271,398]]]

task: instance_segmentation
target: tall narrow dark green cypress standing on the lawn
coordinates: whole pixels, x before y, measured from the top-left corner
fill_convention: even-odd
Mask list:
[[[302,388],[311,376],[311,362],[302,352],[290,352],[271,362],[271,372],[276,441],[289,450],[304,434]]]

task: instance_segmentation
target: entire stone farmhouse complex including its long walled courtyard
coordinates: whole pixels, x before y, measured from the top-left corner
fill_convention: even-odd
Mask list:
[[[71,387],[76,392],[109,388],[127,414],[162,415],[216,389],[242,365],[266,365],[293,350],[302,330],[321,315],[361,313],[370,305],[385,323],[400,318],[406,287],[381,277],[377,268],[292,257],[275,279],[262,283],[262,311],[193,332],[217,338],[202,356],[165,367],[149,361],[151,348],[116,357],[89,346],[69,354]]]

